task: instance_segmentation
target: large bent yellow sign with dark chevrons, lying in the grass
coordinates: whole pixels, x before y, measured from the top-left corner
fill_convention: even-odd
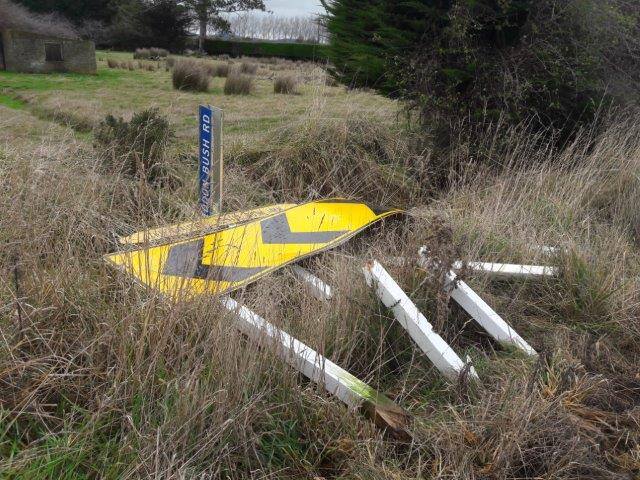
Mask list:
[[[179,242],[107,255],[107,261],[165,295],[223,294],[333,248],[400,210],[344,199],[296,205]]]

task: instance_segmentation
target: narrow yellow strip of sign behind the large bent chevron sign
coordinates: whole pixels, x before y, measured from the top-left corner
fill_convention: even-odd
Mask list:
[[[199,218],[193,222],[183,222],[168,227],[142,230],[126,237],[120,237],[118,241],[121,245],[139,245],[143,243],[152,245],[156,243],[166,243],[170,240],[177,241],[181,238],[205,235],[259,218],[268,217],[276,213],[284,212],[295,206],[295,203],[279,203],[240,212],[212,215]]]

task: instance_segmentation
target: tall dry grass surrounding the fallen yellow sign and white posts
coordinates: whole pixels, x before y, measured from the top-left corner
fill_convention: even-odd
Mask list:
[[[3,475],[637,476],[640,128],[634,120],[562,151],[543,151],[515,133],[505,147],[490,150],[496,142],[488,137],[482,147],[499,163],[491,169],[474,165],[471,146],[461,139],[445,160],[467,166],[449,190],[434,194],[425,188],[428,176],[419,175],[445,160],[429,152],[412,158],[400,128],[345,112],[326,118],[313,108],[288,128],[265,133],[257,146],[234,149],[230,208],[354,194],[400,203],[410,214],[307,262],[334,287],[331,302],[311,298],[288,270],[238,297],[405,407],[413,416],[412,443],[383,436],[295,375],[269,345],[258,348],[238,335],[215,301],[168,304],[104,264],[115,235],[189,218],[193,182],[169,190],[103,172],[97,151],[81,136],[29,110],[0,106]],[[193,177],[189,162],[175,162],[175,170]],[[419,185],[409,183],[416,178]],[[435,293],[437,277],[385,260],[414,258],[425,243],[445,263],[561,267],[559,278],[541,282],[466,274],[540,352],[538,361],[502,349],[464,313],[447,308]],[[547,257],[532,244],[563,250]],[[477,386],[442,381],[364,284],[360,269],[371,258],[389,268],[457,352],[471,356]]]

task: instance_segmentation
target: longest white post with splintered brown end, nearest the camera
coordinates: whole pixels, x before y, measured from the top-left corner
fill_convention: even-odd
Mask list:
[[[238,330],[251,340],[274,344],[278,355],[286,363],[349,407],[362,409],[377,425],[389,428],[399,437],[408,436],[406,428],[409,415],[392,400],[231,297],[223,297],[221,302],[234,315]]]

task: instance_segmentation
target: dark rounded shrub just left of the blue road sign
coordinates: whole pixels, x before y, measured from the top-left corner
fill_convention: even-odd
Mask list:
[[[152,183],[166,177],[163,160],[172,138],[169,122],[155,108],[135,113],[129,122],[108,115],[95,132],[107,166]]]

